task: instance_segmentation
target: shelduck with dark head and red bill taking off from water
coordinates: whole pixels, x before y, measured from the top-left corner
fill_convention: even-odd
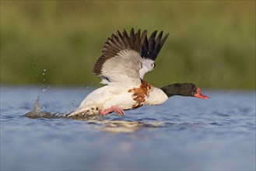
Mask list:
[[[157,30],[147,37],[147,31],[128,34],[117,30],[103,46],[102,55],[96,61],[93,72],[104,86],[95,89],[82,100],[68,117],[75,115],[106,116],[115,112],[124,117],[124,110],[135,110],[144,105],[160,105],[171,96],[192,96],[209,99],[193,83],[174,83],[157,88],[143,79],[156,67],[155,61],[169,33]]]

